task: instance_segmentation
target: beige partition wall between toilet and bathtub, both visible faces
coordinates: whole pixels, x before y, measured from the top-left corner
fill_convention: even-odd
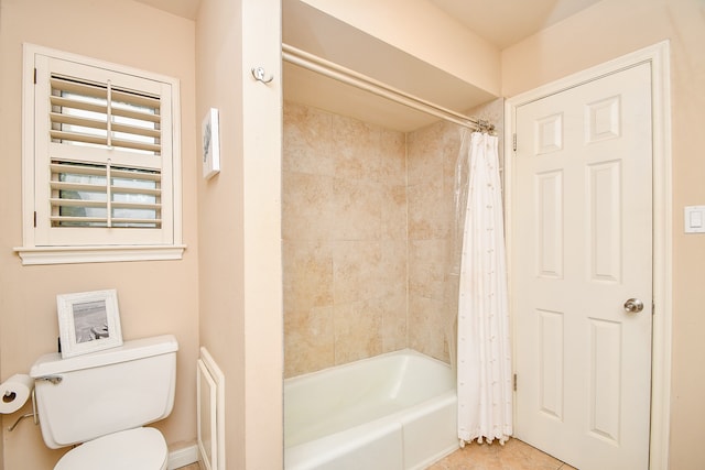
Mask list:
[[[221,135],[221,172],[197,177],[200,343],[226,375],[228,469],[283,462],[279,18],[278,0],[209,0],[196,20],[196,114],[218,108]]]

